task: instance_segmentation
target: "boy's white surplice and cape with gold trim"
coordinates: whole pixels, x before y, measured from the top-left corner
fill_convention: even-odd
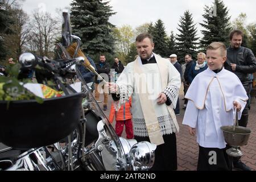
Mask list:
[[[243,110],[248,99],[239,78],[224,68],[219,73],[208,68],[195,77],[185,98],[188,104],[183,125],[196,128],[197,143],[207,148],[225,148],[220,127],[233,125],[233,101],[239,102]],[[238,112],[238,119],[242,110]]]

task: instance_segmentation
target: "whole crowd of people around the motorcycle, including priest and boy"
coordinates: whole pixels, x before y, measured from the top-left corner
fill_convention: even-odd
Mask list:
[[[176,115],[180,114],[179,90],[184,86],[185,110],[183,125],[196,135],[199,144],[197,170],[250,171],[240,158],[226,154],[226,144],[221,126],[233,125],[234,113],[238,125],[246,127],[250,108],[250,91],[256,60],[253,52],[242,47],[243,32],[233,30],[229,36],[230,46],[213,42],[206,52],[199,52],[197,60],[184,55],[180,64],[176,53],[168,59],[153,52],[154,42],[150,34],[136,38],[138,56],[123,66],[118,57],[110,66],[105,55],[97,63],[87,57],[90,64],[106,80],[104,84],[97,75],[83,65],[79,66],[84,80],[94,82],[95,98],[100,101],[103,89],[103,110],[108,110],[109,92],[113,102],[109,121],[115,119],[115,131],[119,137],[125,131],[128,139],[156,144],[155,163],[151,170],[176,170],[176,133],[179,132]],[[15,64],[12,58],[9,64]],[[5,67],[0,67],[6,75]],[[107,79],[108,78],[108,79]],[[216,152],[217,163],[209,163],[209,152]]]

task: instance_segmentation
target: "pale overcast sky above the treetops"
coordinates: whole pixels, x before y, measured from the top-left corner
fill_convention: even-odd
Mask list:
[[[56,9],[64,9],[71,2],[72,0],[25,0],[23,10],[31,14],[33,10],[39,8],[56,15]],[[231,20],[236,19],[240,13],[246,13],[245,23],[256,23],[255,0],[223,0],[223,2],[229,9]],[[110,17],[109,21],[117,27],[130,25],[136,28],[144,23],[155,23],[156,20],[162,19],[168,35],[171,31],[178,34],[177,24],[180,16],[184,11],[189,10],[200,35],[202,27],[199,23],[203,22],[204,6],[211,6],[212,3],[213,0],[110,0],[110,6],[116,14]]]

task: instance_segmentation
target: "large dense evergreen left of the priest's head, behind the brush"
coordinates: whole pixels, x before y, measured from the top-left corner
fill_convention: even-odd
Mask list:
[[[71,23],[73,34],[82,40],[81,48],[85,53],[113,53],[113,24],[109,23],[112,7],[109,1],[73,0],[71,3]]]

